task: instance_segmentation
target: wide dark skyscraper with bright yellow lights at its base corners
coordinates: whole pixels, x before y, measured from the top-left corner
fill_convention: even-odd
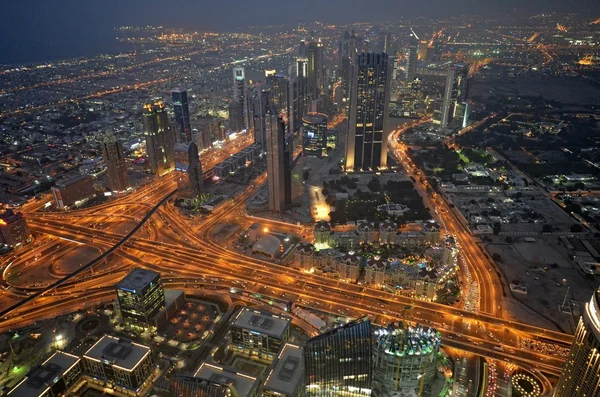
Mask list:
[[[391,64],[393,60],[385,52],[357,57],[350,91],[346,171],[387,166]]]

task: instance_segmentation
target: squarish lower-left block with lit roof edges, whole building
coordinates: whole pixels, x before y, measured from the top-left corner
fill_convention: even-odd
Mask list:
[[[152,387],[156,365],[148,346],[104,335],[83,355],[85,375],[106,382],[122,394],[144,396]]]

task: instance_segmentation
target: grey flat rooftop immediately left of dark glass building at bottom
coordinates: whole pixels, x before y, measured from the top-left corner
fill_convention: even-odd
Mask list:
[[[265,381],[265,388],[294,397],[302,382],[302,348],[286,343]]]

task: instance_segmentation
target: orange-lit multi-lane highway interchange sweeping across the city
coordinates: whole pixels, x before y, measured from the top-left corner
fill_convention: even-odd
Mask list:
[[[240,216],[245,213],[245,201],[266,181],[266,175],[261,175],[211,215],[198,220],[181,215],[169,200],[165,200],[164,205],[156,205],[177,187],[177,176],[171,173],[125,197],[87,209],[65,213],[35,212],[45,200],[24,207],[36,240],[31,249],[2,261],[1,292],[8,302],[26,300],[34,295],[35,299],[10,311],[3,305],[0,331],[111,301],[115,297],[114,284],[131,266],[142,266],[159,271],[167,288],[202,286],[221,288],[225,292],[235,287],[283,300],[292,294],[297,296],[295,303],[298,305],[338,316],[367,315],[378,324],[404,320],[434,326],[448,347],[510,361],[534,372],[560,375],[564,355],[523,349],[520,340],[548,341],[564,350],[570,346],[572,336],[503,318],[502,282],[492,271],[494,265],[456,220],[445,201],[428,193],[420,171],[397,144],[396,138],[401,132],[399,129],[391,135],[390,149],[406,172],[415,177],[415,186],[446,232],[456,236],[465,265],[479,288],[478,311],[392,295],[244,256],[215,241],[212,232],[219,225],[240,221]],[[214,164],[215,161],[205,164],[205,169]],[[156,212],[141,223],[152,208]],[[261,223],[268,227],[272,223],[273,229],[281,228],[279,222],[265,220]],[[139,230],[125,238],[136,224],[139,224]],[[301,233],[303,229],[290,225],[289,230]],[[48,287],[67,274],[56,266],[61,257],[83,246],[93,252],[107,252],[121,240],[119,249],[91,266],[89,271],[65,280],[56,288]],[[92,259],[83,260],[81,266]],[[29,273],[41,277],[33,281],[31,277],[25,277]]]

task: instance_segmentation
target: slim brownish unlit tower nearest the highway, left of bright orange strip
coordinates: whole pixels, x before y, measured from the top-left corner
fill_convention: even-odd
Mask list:
[[[285,122],[274,107],[265,116],[267,140],[267,178],[269,187],[269,210],[283,214],[291,204],[291,153],[285,137]],[[287,167],[286,167],[287,165]]]

